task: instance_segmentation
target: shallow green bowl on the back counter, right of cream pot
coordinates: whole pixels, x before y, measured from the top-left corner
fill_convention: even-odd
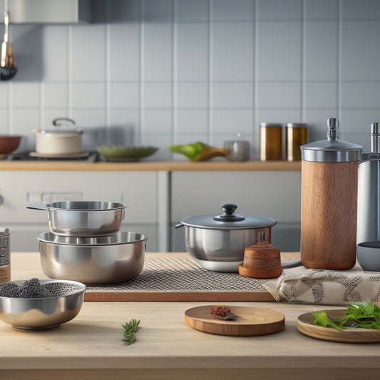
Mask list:
[[[138,161],[157,152],[155,146],[98,146],[98,152],[108,161]]]

